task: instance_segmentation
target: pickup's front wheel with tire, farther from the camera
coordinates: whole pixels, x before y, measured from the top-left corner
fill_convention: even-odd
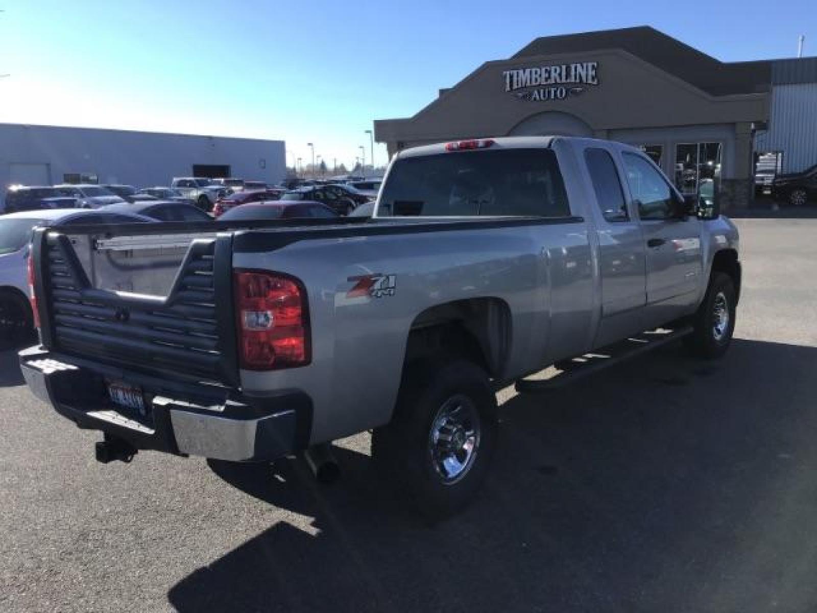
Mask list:
[[[685,338],[686,346],[695,356],[714,359],[729,348],[734,332],[737,299],[729,275],[712,272],[707,293],[692,320],[693,333]]]

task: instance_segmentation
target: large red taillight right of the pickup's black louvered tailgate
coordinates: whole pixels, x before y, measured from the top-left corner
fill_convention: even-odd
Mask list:
[[[241,368],[275,370],[310,362],[306,292],[291,277],[235,271]]]

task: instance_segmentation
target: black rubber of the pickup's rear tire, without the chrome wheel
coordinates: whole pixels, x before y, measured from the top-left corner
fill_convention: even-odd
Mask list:
[[[466,474],[446,484],[431,463],[428,437],[437,411],[457,394],[474,402],[480,417],[480,445]],[[373,434],[373,456],[393,471],[391,477],[411,494],[426,519],[444,519],[466,506],[484,481],[497,444],[496,413],[496,396],[478,366],[457,359],[415,365],[401,384],[394,419]]]

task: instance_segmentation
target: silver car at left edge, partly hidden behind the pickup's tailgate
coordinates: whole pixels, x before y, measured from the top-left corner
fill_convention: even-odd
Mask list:
[[[0,217],[0,338],[4,345],[33,338],[26,266],[34,228],[85,223],[122,224],[153,221],[130,213],[102,210],[51,209],[9,213]]]

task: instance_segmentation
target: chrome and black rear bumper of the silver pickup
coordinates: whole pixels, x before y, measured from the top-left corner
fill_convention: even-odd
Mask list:
[[[138,450],[267,461],[306,448],[311,401],[300,391],[245,396],[232,389],[179,383],[30,347],[20,369],[35,396],[78,427],[99,430]],[[141,387],[152,418],[110,402],[105,382]]]

